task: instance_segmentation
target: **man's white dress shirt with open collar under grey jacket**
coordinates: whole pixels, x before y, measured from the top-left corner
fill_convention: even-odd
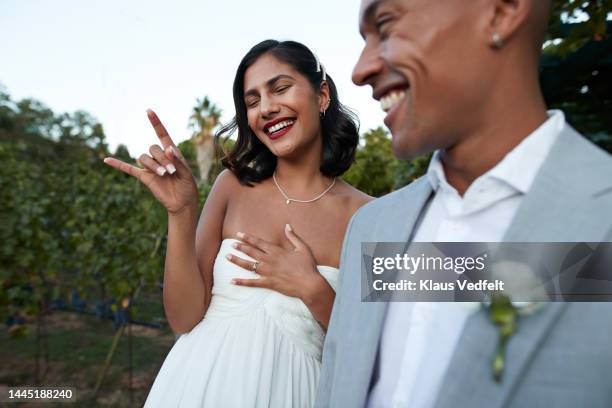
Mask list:
[[[550,148],[565,125],[561,111],[478,177],[463,197],[446,181],[436,151],[426,177],[435,193],[423,211],[415,242],[499,242]],[[471,307],[470,307],[471,306]],[[474,304],[391,302],[377,359],[379,376],[369,408],[434,406]],[[469,375],[469,373],[466,373]]]

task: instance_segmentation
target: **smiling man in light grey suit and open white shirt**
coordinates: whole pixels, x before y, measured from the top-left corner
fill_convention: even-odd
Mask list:
[[[612,241],[612,159],[540,92],[550,3],[362,0],[353,81],[398,158],[435,153],[348,227],[317,407],[612,407],[609,303],[520,317],[498,384],[485,311],[361,301],[361,242]]]

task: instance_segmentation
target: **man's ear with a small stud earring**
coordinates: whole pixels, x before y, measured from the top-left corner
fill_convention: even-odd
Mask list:
[[[491,0],[488,15],[487,41],[492,47],[501,48],[516,35],[527,22],[532,1],[542,0]]]

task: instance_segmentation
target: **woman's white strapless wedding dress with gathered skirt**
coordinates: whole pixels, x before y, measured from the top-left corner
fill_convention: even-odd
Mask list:
[[[231,263],[225,239],[213,267],[212,300],[204,319],[182,334],[149,392],[153,408],[312,407],[325,333],[301,300],[232,278],[257,274]],[[334,290],[338,269],[317,266]]]

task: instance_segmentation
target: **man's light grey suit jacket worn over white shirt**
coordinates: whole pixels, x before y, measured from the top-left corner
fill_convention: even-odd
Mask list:
[[[353,216],[342,249],[317,408],[365,405],[388,304],[361,302],[361,242],[407,241],[431,194],[430,184],[420,178]],[[568,126],[504,241],[612,241],[612,157]],[[612,303],[549,303],[521,319],[508,343],[501,385],[491,379],[497,340],[485,312],[468,319],[436,408],[612,407]]]

